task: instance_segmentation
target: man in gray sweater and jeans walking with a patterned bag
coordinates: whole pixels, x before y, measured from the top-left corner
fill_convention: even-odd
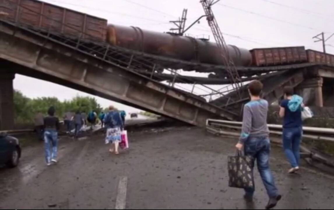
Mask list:
[[[281,199],[275,186],[274,177],[269,168],[270,140],[267,126],[268,102],[260,98],[263,84],[254,80],[248,85],[251,101],[243,107],[242,130],[239,142],[235,145],[238,150],[244,148],[245,155],[257,160],[258,170],[269,196],[266,209],[274,208]],[[244,198],[253,200],[255,188],[245,189]]]

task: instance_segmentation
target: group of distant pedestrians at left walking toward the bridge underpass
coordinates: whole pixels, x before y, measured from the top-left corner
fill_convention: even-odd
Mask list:
[[[59,118],[55,116],[55,108],[51,106],[44,117],[41,111],[38,111],[34,118],[35,131],[37,137],[44,141],[45,161],[47,166],[57,163],[58,154],[58,131],[60,129]],[[111,143],[110,152],[119,154],[119,143],[121,142],[121,132],[125,126],[125,111],[117,111],[114,106],[109,107],[109,112],[101,112],[99,120],[101,127],[106,127],[106,143]],[[91,123],[91,129],[97,123],[97,113],[91,111],[88,115],[85,112],[76,111],[66,112],[63,116],[66,133],[70,134],[74,130],[74,138],[78,138],[82,128],[87,127],[87,122]]]

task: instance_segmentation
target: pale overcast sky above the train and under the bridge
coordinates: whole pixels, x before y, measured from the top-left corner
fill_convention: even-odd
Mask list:
[[[203,15],[199,0],[45,0],[52,4],[88,13],[108,20],[109,23],[138,26],[143,29],[166,32],[184,8],[188,22]],[[221,0],[213,7],[220,29],[228,44],[247,49],[276,46],[305,46],[322,51],[321,42],[312,37],[326,32],[334,33],[334,0]],[[210,35],[205,19],[187,33]],[[327,41],[326,50],[334,54],[334,36]],[[14,88],[28,97],[55,96],[60,100],[86,96],[67,87],[16,75]],[[52,91],[50,91],[52,90]],[[127,111],[136,109],[97,97],[107,107],[114,104]]]

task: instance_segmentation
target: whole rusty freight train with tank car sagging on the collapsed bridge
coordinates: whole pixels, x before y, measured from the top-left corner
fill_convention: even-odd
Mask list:
[[[38,0],[0,0],[0,19],[25,27],[87,42],[141,51],[177,60],[224,65],[214,42],[107,23],[106,19]],[[247,50],[228,45],[235,66],[277,66],[318,63],[334,66],[334,56],[304,46]],[[191,70],[191,69],[190,69]],[[196,69],[200,72],[200,69]]]

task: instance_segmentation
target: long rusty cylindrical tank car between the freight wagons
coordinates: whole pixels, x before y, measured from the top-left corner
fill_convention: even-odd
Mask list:
[[[115,46],[185,61],[224,65],[215,43],[193,37],[142,30],[138,27],[108,25],[107,41]],[[247,49],[227,47],[236,66],[250,66],[252,55]]]

